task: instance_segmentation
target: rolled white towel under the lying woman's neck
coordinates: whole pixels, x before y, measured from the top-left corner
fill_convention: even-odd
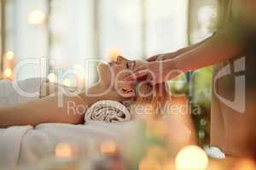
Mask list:
[[[128,122],[131,113],[121,103],[113,100],[102,100],[91,105],[84,115],[84,122]]]

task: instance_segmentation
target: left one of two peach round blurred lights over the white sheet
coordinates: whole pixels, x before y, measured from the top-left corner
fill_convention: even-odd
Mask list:
[[[73,156],[73,148],[70,144],[58,144],[55,147],[55,156],[61,158],[68,158]]]

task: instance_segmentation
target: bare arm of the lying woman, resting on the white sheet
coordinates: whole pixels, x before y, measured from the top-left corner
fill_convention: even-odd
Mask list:
[[[82,114],[70,114],[68,102],[73,105],[87,105],[79,97],[63,97],[63,107],[58,106],[58,96],[51,95],[14,108],[0,110],[0,127],[32,125],[43,122],[82,122]]]

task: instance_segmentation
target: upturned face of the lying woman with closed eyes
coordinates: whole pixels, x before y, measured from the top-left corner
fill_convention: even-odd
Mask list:
[[[134,91],[132,84],[124,82],[124,78],[145,62],[143,60],[129,60],[119,56],[116,61],[111,61],[108,64],[101,63],[97,67],[99,80],[125,92]]]

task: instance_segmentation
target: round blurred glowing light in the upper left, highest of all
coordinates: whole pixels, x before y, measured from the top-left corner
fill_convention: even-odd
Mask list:
[[[29,24],[32,25],[40,25],[44,23],[44,20],[46,19],[46,14],[42,12],[39,9],[33,10],[30,14],[27,16],[27,21]]]

